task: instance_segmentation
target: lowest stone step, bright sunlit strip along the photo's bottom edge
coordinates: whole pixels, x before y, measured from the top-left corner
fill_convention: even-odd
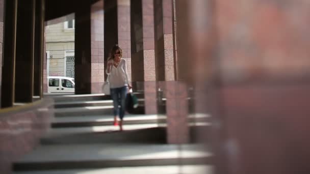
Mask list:
[[[145,166],[145,167],[109,167],[89,168],[75,170],[46,170],[46,171],[16,171],[13,174],[212,174],[214,169],[211,165],[166,165],[166,166]]]

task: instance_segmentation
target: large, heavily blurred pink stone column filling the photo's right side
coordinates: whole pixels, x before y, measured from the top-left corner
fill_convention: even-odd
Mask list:
[[[218,173],[310,173],[310,6],[216,1],[222,161]]]

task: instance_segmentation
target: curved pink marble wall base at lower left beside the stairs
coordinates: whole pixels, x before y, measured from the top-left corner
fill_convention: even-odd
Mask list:
[[[53,100],[0,114],[0,172],[11,173],[14,160],[38,146],[39,138],[49,129]],[[38,109],[40,108],[40,109]]]

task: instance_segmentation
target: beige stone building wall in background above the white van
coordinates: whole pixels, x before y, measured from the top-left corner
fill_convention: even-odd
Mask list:
[[[65,52],[74,51],[74,30],[65,29],[64,22],[45,27],[46,51],[49,51],[48,76],[65,76]]]

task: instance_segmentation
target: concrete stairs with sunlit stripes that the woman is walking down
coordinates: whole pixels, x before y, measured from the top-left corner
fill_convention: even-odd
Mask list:
[[[51,130],[14,173],[212,173],[212,154],[192,136],[208,131],[208,115],[190,115],[193,143],[167,144],[165,115],[126,114],[120,132],[108,97],[53,96]]]

